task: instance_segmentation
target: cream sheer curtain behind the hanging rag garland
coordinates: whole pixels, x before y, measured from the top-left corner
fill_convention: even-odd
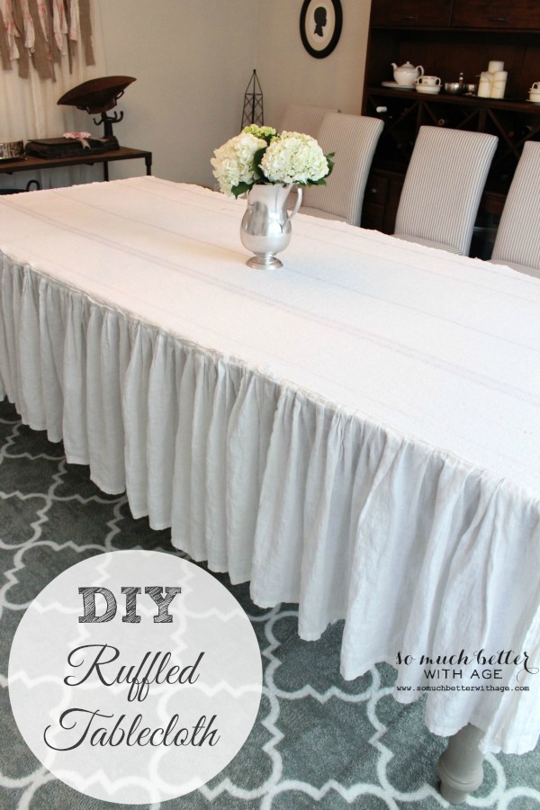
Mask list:
[[[58,98],[71,87],[80,85],[95,76],[106,76],[103,36],[99,4],[91,3],[91,20],[95,64],[85,64],[82,43],[77,43],[76,58],[73,59],[71,72],[69,60],[62,58],[55,62],[56,80],[41,79],[37,70],[30,66],[29,76],[19,76],[17,63],[13,62],[12,70],[0,68],[0,140],[30,140],[32,138],[57,138],[66,131],[92,130],[93,122],[86,112],[75,107],[58,105]],[[18,40],[23,48],[23,40]],[[96,116],[99,117],[99,116]],[[1,163],[0,163],[1,170]],[[54,176],[53,176],[54,175]],[[28,179],[36,177],[43,188],[51,185],[66,185],[82,182],[87,175],[86,168],[75,167],[70,170],[53,170],[48,172],[26,172],[17,175],[0,174],[0,186],[3,188],[23,187]]]

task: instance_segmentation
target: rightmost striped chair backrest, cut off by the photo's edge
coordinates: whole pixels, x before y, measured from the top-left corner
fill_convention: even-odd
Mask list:
[[[527,140],[497,229],[492,262],[540,271],[540,142]]]

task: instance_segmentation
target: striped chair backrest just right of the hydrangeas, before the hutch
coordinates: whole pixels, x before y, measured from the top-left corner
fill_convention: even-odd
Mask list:
[[[359,225],[367,175],[383,126],[379,118],[327,113],[317,140],[325,155],[336,153],[334,171],[326,185],[303,190],[302,207],[327,211],[350,225]]]

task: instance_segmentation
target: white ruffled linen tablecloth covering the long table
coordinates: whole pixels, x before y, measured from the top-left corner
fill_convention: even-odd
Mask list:
[[[411,655],[409,702],[422,654],[537,668],[540,281],[302,215],[255,271],[244,209],[155,177],[0,199],[0,395],[258,605],[298,602],[302,638],[345,618],[345,678]],[[508,660],[453,667],[510,690],[430,691],[428,728],[534,748],[540,674]]]

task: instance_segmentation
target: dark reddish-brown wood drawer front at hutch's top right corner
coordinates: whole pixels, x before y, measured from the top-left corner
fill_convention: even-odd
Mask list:
[[[459,28],[540,30],[539,0],[454,0],[452,25]]]

